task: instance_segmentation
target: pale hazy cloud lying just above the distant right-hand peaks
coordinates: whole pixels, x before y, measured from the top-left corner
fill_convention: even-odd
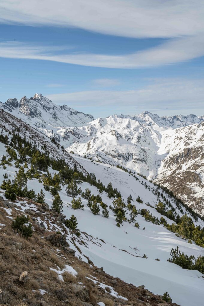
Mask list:
[[[204,114],[204,80],[153,79],[148,85],[128,91],[79,91],[47,95],[56,104],[90,107],[98,113],[136,114],[144,110],[159,114],[183,111]],[[113,110],[113,111],[112,111]],[[201,111],[201,113],[199,113]]]

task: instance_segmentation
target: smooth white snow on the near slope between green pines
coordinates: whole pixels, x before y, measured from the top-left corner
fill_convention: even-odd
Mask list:
[[[4,145],[0,143],[0,157],[5,153]],[[158,203],[157,196],[152,192],[155,186],[142,177],[137,176],[139,180],[136,180],[133,176],[115,166],[91,162],[75,155],[72,156],[88,172],[94,172],[96,178],[100,178],[103,184],[107,185],[111,181],[113,187],[120,190],[125,202],[131,193],[133,200],[140,196],[145,203],[149,202],[152,206]],[[17,169],[13,166],[7,166],[6,170],[0,169],[0,181],[3,180],[5,172],[11,175],[10,178],[12,179],[15,175],[15,170]],[[55,173],[57,171],[50,169],[50,172]],[[150,190],[145,188],[144,181],[147,182]],[[42,183],[37,179],[29,180],[27,185],[29,189],[33,188],[36,192],[43,188]],[[128,222],[124,222],[123,226],[118,228],[112,211],[109,210],[110,217],[108,219],[103,218],[101,213],[94,216],[86,205],[87,200],[83,199],[85,204],[84,211],[73,210],[70,205],[72,198],[66,195],[65,187],[62,187],[62,191],[60,191],[60,196],[64,201],[63,213],[66,218],[70,218],[74,213],[81,232],[80,239],[75,237],[75,245],[69,239],[71,234],[70,236],[68,235],[67,239],[71,248],[75,249],[78,257],[80,256],[84,261],[87,261],[84,256],[86,255],[95,265],[102,266],[106,273],[120,277],[124,281],[137,286],[145,285],[145,288],[154,293],[163,294],[168,291],[173,302],[180,305],[202,305],[204,285],[202,274],[198,271],[184,270],[175,264],[168,263],[167,259],[170,257],[171,248],[175,248],[177,245],[187,255],[196,257],[200,254],[203,255],[203,248],[195,244],[189,244],[186,240],[176,237],[174,233],[169,232],[163,226],[146,222],[141,215],[137,216],[137,222],[140,224],[139,229],[135,228],[133,223],[129,224]],[[89,187],[94,195],[98,194],[97,188],[90,186],[88,183],[83,182],[80,187],[82,191]],[[45,190],[44,192],[46,202],[51,206],[52,196],[49,192]],[[167,194],[164,193],[164,195],[170,200],[177,213],[181,214],[175,206],[174,200]],[[102,193],[102,200],[108,205],[112,203],[112,200],[107,197],[105,192]],[[135,201],[133,203],[137,209],[147,208],[153,215],[160,218],[161,215],[154,208]],[[18,205],[21,206],[22,210],[29,208],[25,204],[25,206],[21,205],[21,202],[18,202]],[[185,213],[185,208],[183,210]],[[187,212],[187,214],[189,213]],[[169,223],[172,222],[169,219],[167,221]],[[198,224],[204,226],[200,219],[198,219]],[[143,227],[145,227],[145,230],[143,230]],[[81,250],[82,254],[80,254],[76,246]],[[144,253],[148,259],[142,257]],[[160,261],[155,261],[156,258],[160,258]]]

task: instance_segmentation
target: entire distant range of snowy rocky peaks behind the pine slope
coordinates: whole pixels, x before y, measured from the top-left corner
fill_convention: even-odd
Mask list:
[[[54,137],[68,152],[124,166],[167,186],[204,214],[204,116],[159,117],[143,112],[94,120],[41,94],[9,99],[0,107]],[[198,156],[199,155],[199,156]]]

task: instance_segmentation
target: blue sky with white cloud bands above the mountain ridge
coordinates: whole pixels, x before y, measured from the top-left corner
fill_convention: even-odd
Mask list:
[[[204,115],[201,0],[0,0],[0,101]]]

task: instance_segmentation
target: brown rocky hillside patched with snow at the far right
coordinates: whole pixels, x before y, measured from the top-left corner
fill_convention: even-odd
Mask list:
[[[204,122],[161,132],[156,182],[204,215]]]

